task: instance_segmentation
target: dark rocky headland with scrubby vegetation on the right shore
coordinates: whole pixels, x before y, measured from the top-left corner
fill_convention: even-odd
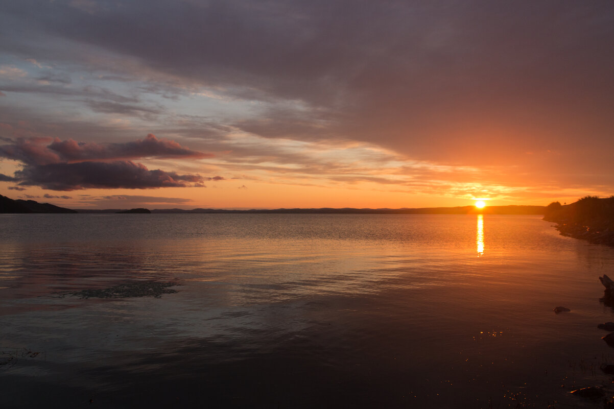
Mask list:
[[[555,222],[561,235],[614,246],[614,196],[586,196],[565,205],[555,201],[546,206],[543,219]]]

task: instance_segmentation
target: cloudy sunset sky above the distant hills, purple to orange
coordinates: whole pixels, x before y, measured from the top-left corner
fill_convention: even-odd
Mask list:
[[[613,159],[612,0],[0,0],[10,198],[546,205]]]

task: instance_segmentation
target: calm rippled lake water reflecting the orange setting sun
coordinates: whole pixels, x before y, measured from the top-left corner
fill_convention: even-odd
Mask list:
[[[0,215],[0,407],[599,407],[604,273],[537,216]]]

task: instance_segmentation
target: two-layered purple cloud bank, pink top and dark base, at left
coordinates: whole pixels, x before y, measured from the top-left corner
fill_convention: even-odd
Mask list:
[[[123,144],[96,144],[72,139],[29,138],[0,146],[0,157],[24,164],[14,177],[21,186],[39,186],[49,190],[80,189],[154,189],[159,187],[202,186],[204,177],[198,174],[177,174],[161,169],[150,170],[141,163],[120,158],[206,158],[204,154],[186,149],[177,142],[146,139]],[[221,179],[223,177],[216,176]],[[206,178],[207,180],[215,179]]]

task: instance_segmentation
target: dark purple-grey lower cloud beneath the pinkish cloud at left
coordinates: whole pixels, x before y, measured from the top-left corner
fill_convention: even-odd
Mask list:
[[[149,170],[130,161],[31,165],[15,172],[15,177],[21,181],[20,185],[37,185],[49,190],[189,187],[203,179],[193,174]]]

